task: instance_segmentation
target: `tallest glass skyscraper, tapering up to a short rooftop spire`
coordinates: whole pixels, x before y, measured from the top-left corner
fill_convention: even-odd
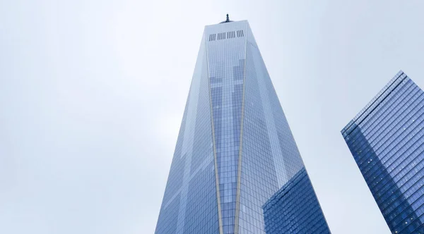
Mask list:
[[[273,223],[296,225],[264,220],[264,205],[300,171],[307,183],[296,189],[306,187],[311,207],[287,200],[266,211],[299,209],[302,225],[321,219],[313,223],[329,233],[249,23],[206,26],[155,233],[258,234],[264,223],[271,231]]]

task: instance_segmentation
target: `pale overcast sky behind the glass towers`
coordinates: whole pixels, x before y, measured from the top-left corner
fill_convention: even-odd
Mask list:
[[[0,233],[153,233],[204,25],[249,20],[333,233],[389,233],[340,130],[424,1],[0,0]]]

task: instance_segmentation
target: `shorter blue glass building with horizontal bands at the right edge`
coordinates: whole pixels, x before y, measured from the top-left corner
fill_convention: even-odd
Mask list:
[[[424,233],[424,95],[399,71],[341,134],[392,233]]]

